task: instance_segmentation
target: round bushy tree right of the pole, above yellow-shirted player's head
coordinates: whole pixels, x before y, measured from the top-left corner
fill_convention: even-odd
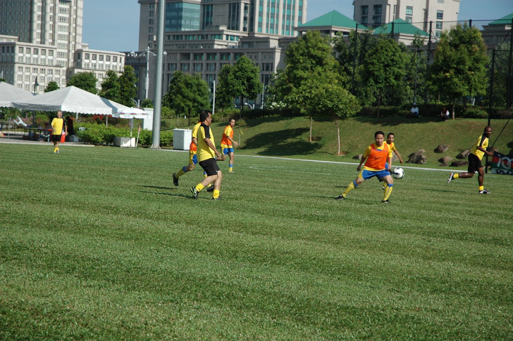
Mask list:
[[[199,75],[187,75],[181,71],[174,73],[170,82],[169,91],[162,98],[162,102],[177,115],[190,117],[209,107],[209,88],[207,82]]]

